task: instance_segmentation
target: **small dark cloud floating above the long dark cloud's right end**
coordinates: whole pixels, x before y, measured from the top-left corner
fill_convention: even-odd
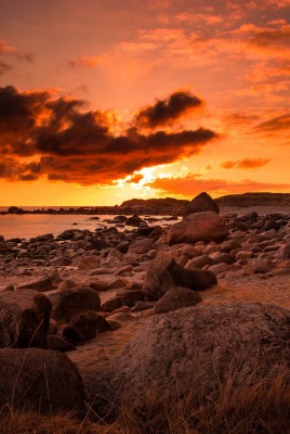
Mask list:
[[[143,128],[168,125],[201,104],[202,101],[190,92],[174,92],[167,100],[157,100],[156,104],[141,108],[135,123]]]

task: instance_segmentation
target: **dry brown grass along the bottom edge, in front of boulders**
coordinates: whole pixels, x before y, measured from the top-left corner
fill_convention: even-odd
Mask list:
[[[160,394],[159,394],[160,395]],[[290,369],[232,373],[215,396],[158,396],[123,407],[114,423],[71,414],[41,417],[2,411],[1,434],[290,434]]]

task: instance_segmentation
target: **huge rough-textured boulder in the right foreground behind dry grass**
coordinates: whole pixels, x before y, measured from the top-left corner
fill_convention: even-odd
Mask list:
[[[153,317],[105,368],[95,393],[116,405],[186,393],[210,395],[290,360],[290,311],[267,304],[187,307]],[[233,376],[234,375],[234,376]],[[101,407],[104,400],[96,400]]]

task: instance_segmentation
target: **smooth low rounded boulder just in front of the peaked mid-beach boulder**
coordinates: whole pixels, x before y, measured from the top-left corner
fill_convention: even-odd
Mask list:
[[[155,305],[155,314],[166,314],[183,307],[195,306],[200,303],[201,296],[198,292],[187,288],[171,288]]]

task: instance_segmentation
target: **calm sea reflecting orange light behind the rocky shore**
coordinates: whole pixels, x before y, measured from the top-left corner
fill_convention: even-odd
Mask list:
[[[47,209],[39,206],[22,206],[22,208],[25,210]],[[0,206],[0,212],[3,210],[8,210],[8,207]],[[100,220],[92,217],[98,217]],[[6,214],[0,215],[0,235],[4,237],[5,240],[13,238],[30,240],[30,238],[43,235],[44,233],[53,233],[56,237],[66,229],[88,229],[94,232],[97,228],[111,227],[113,225],[105,220],[111,220],[113,218],[114,215]],[[144,218],[146,219],[146,217]],[[156,218],[158,221],[155,221],[153,225],[167,226],[171,224],[164,220],[166,216],[158,216]],[[129,228],[131,227],[118,227],[118,230],[121,231]]]

